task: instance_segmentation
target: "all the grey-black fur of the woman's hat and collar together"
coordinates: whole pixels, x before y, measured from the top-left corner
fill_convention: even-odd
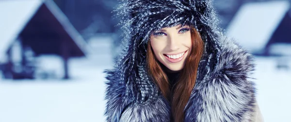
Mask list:
[[[205,43],[185,122],[252,121],[252,56],[223,36],[211,0],[121,0],[116,12],[124,39],[114,68],[105,71],[108,122],[170,121],[170,103],[147,74],[146,43],[152,31],[184,24]]]

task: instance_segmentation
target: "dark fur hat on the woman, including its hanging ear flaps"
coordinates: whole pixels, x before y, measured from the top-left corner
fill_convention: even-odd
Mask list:
[[[201,60],[218,61],[217,55],[221,50],[219,38],[222,31],[218,27],[212,0],[121,0],[120,2],[115,12],[120,18],[118,25],[122,26],[123,41],[121,54],[116,58],[115,69],[121,73],[119,74],[121,80],[127,79],[127,85],[139,87],[143,99],[147,94],[156,93],[155,90],[150,92],[145,88],[154,84],[148,80],[130,78],[132,75],[139,77],[141,74],[146,74],[146,49],[151,32],[177,25],[195,27],[205,44]],[[211,66],[205,65],[206,70],[209,71]]]

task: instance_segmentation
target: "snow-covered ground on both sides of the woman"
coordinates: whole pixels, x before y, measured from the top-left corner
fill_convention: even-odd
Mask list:
[[[97,57],[71,59],[68,81],[0,79],[0,122],[105,122],[102,71],[111,60]],[[256,57],[259,107],[265,122],[291,122],[291,70],[275,62]]]

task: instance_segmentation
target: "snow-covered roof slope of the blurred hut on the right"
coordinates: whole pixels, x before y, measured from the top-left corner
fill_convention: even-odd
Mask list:
[[[249,51],[262,51],[290,9],[289,1],[267,1],[243,4],[226,29]]]

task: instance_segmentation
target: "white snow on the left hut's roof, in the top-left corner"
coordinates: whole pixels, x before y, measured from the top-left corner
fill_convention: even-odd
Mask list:
[[[0,59],[41,3],[41,0],[0,0]]]

